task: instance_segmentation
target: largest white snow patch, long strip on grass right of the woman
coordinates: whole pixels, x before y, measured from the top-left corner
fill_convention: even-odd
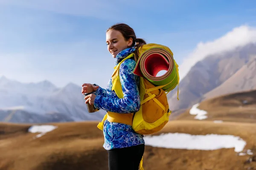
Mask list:
[[[233,135],[191,135],[187,133],[164,133],[159,136],[144,136],[145,145],[187,150],[217,150],[235,148],[235,152],[244,150],[246,142]]]

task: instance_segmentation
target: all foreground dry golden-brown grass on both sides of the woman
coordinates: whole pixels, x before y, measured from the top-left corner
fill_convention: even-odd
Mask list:
[[[97,122],[52,123],[57,129],[40,138],[30,125],[0,124],[0,170],[108,170],[107,152]],[[256,153],[256,127],[251,123],[171,121],[161,132],[231,134],[247,141]],[[250,163],[246,163],[251,159]],[[145,147],[145,170],[246,170],[256,156],[238,156],[234,149],[185,150]]]

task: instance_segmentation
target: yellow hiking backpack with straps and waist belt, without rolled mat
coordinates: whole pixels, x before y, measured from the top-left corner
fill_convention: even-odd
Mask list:
[[[162,47],[161,45],[157,46]],[[148,44],[148,46],[143,45],[143,48],[140,48],[140,54],[142,54],[145,50],[151,47],[152,44]],[[163,47],[166,49],[166,46]],[[167,50],[172,54],[172,51],[169,48],[167,48]],[[116,92],[116,95],[119,98],[123,98],[122,85],[119,79],[119,68],[122,62],[132,57],[134,57],[134,54],[130,54],[118,65],[116,65],[116,67],[114,67],[115,70],[112,74],[112,90]],[[175,79],[176,82],[174,83],[171,90],[174,89],[179,83],[178,65],[176,62],[175,69],[176,79],[173,78],[172,81],[174,81]],[[169,83],[171,83],[172,81],[170,81]],[[140,110],[136,113],[125,114],[113,113],[108,111],[108,113],[104,116],[102,122],[100,122],[97,127],[103,130],[104,121],[108,119],[109,122],[118,122],[131,125],[136,133],[142,135],[148,135],[160,131],[169,121],[169,116],[171,113],[171,111],[169,110],[166,92],[162,89],[166,85],[155,86],[145,77],[140,77]]]

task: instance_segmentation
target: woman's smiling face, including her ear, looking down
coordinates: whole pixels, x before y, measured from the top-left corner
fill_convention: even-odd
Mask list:
[[[113,58],[116,58],[116,55],[130,47],[132,45],[132,38],[125,40],[125,37],[121,32],[114,29],[108,30],[106,33],[106,42],[108,45],[108,51],[112,54]]]

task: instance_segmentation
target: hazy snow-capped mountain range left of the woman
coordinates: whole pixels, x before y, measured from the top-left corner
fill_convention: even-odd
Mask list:
[[[67,116],[69,121],[100,120],[105,114],[105,111],[88,113],[81,87],[73,83],[57,88],[47,80],[20,83],[6,77],[0,77],[0,110],[23,110],[26,115],[41,116],[59,113]]]

